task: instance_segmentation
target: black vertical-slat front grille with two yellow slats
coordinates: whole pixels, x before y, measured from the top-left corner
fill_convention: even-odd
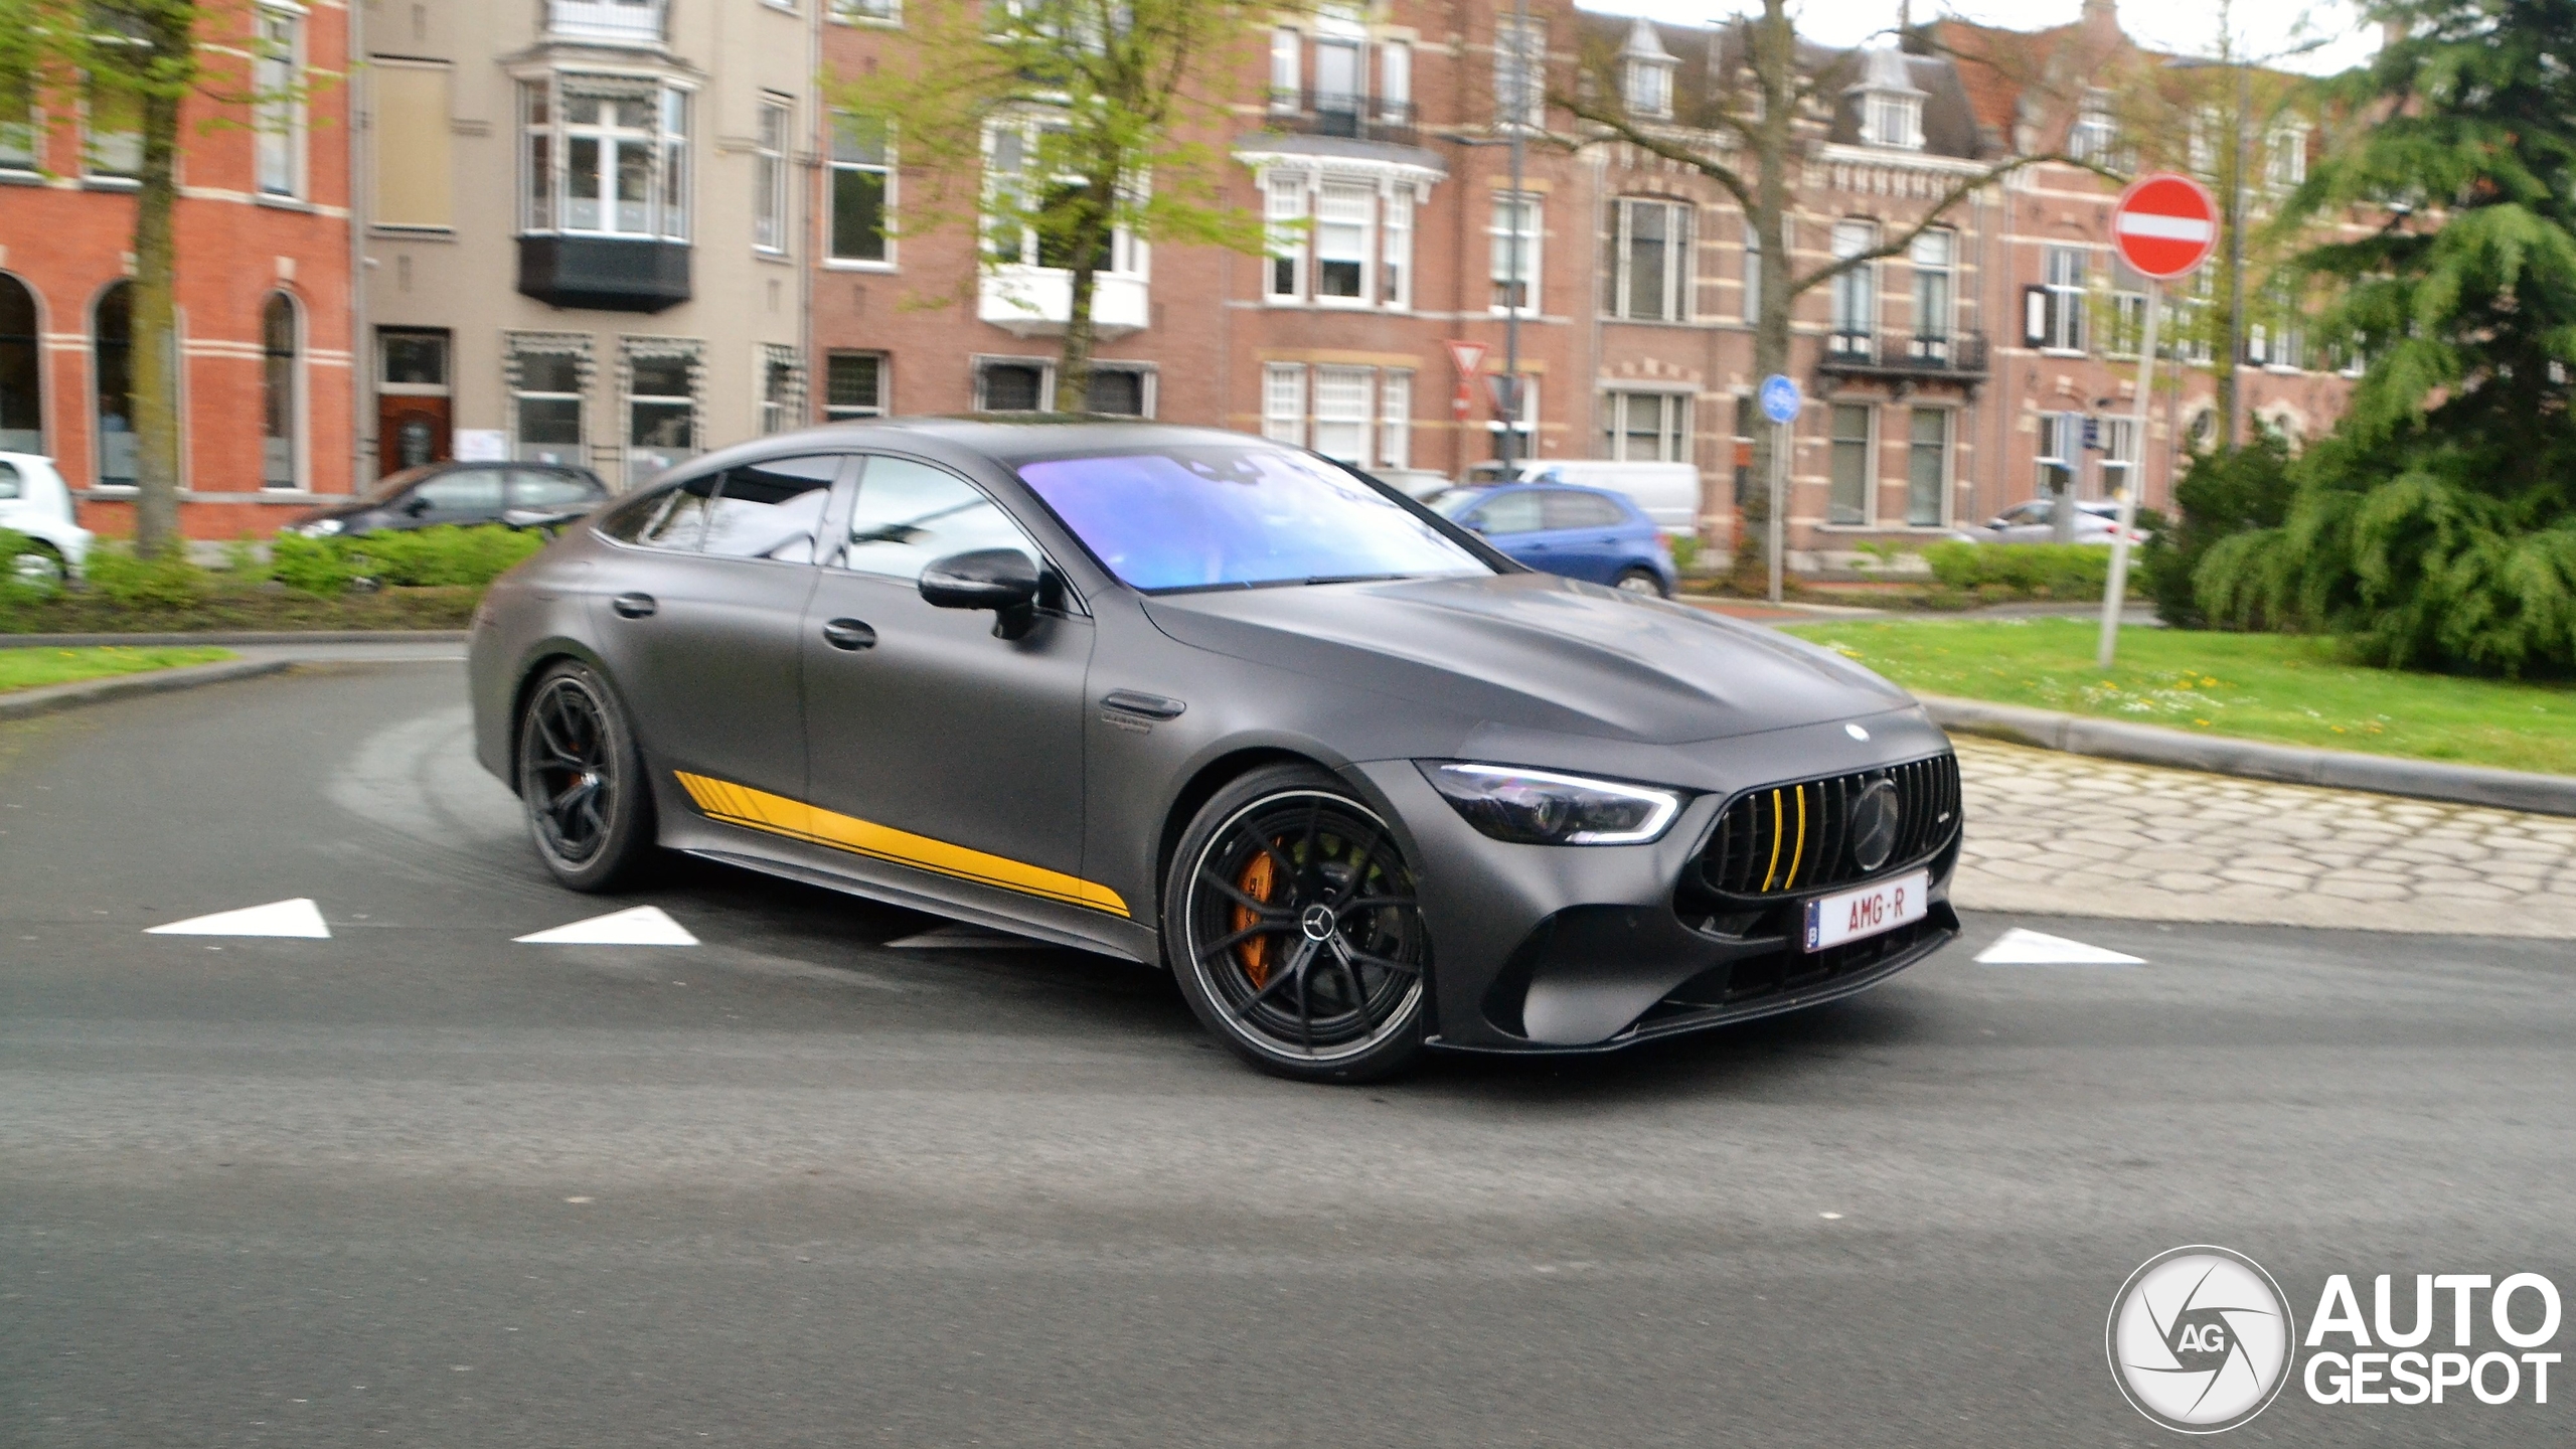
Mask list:
[[[1878,866],[1929,856],[1958,830],[1958,755],[1754,789],[1718,817],[1700,879],[1731,897],[1826,890],[1870,871],[1852,859],[1852,799],[1873,781],[1896,786],[1896,848]]]

